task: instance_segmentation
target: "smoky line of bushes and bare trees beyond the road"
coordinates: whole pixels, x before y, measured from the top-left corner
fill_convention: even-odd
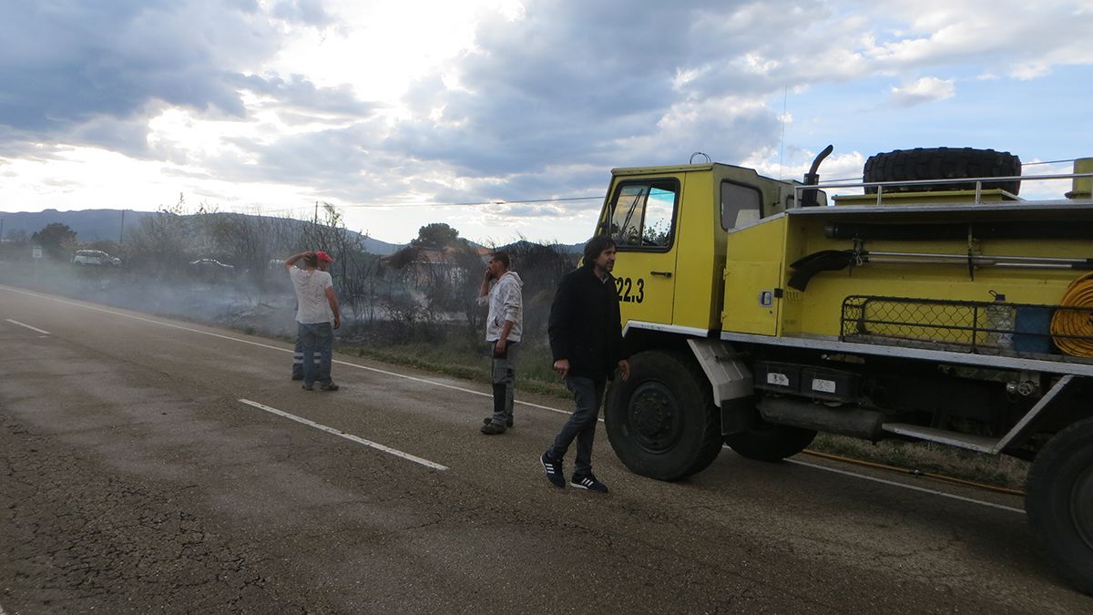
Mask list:
[[[187,211],[180,199],[142,218],[120,244],[81,243],[70,228],[51,223],[28,237],[9,236],[0,258],[25,258],[26,245],[34,244],[46,259],[62,265],[75,250],[102,250],[121,258],[122,267],[111,272],[119,283],[172,283],[203,275],[210,291],[242,290],[259,302],[271,293],[291,294],[281,259],[304,250],[324,250],[334,256],[330,272],[350,329],[372,328],[388,341],[430,340],[453,332],[481,335],[485,311],[475,299],[485,260],[495,250],[509,254],[524,279],[525,335],[545,338],[554,288],[578,258],[561,246],[522,240],[483,248],[444,222],[422,227],[410,245],[384,257],[365,250],[366,237],[346,229],[338,210],[327,204],[320,204],[315,219],[302,221],[204,207]],[[232,269],[209,274],[190,266],[202,258]]]

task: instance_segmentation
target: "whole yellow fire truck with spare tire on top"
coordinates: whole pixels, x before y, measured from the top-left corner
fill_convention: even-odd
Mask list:
[[[820,185],[830,152],[803,182],[708,159],[612,171],[597,233],[632,352],[612,448],[662,480],[818,431],[1032,460],[1032,526],[1093,594],[1093,159],[1037,176],[1071,190],[1033,201],[1007,152],[897,150]]]

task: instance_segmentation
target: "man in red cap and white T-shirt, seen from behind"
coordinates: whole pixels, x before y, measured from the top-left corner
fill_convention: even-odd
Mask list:
[[[321,256],[320,256],[321,255]],[[303,268],[296,262],[303,259]],[[303,357],[312,358],[316,352],[319,362],[303,361],[304,388],[314,391],[319,382],[322,391],[338,391],[330,378],[331,352],[333,350],[333,328],[341,326],[341,311],[334,297],[330,274],[319,267],[319,263],[333,262],[325,252],[301,252],[284,260],[292,286],[296,291],[296,327]]]

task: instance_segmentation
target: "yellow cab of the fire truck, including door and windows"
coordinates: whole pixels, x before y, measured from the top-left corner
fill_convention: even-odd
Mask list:
[[[791,185],[717,163],[611,174],[599,232],[618,246],[627,334],[719,330],[728,233],[785,211]]]

